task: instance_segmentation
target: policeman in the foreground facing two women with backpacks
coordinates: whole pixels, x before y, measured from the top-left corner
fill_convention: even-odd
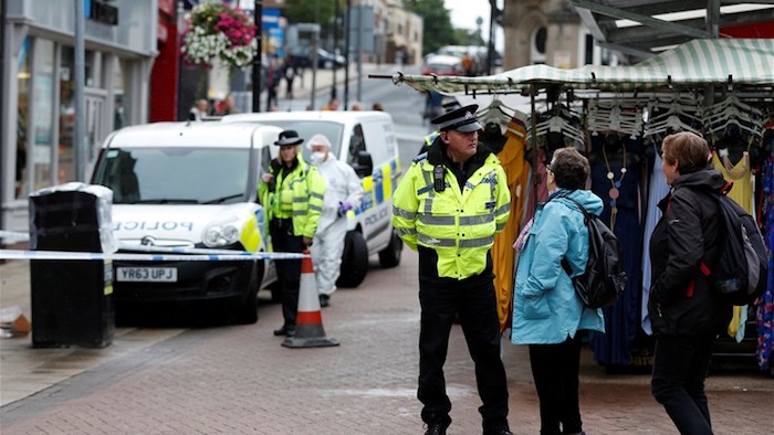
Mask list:
[[[479,147],[477,109],[432,119],[439,140],[414,159],[393,199],[393,225],[419,253],[417,397],[426,434],[446,434],[451,424],[443,363],[457,312],[475,362],[483,434],[511,434],[490,253],[508,222],[511,194],[498,158]]]

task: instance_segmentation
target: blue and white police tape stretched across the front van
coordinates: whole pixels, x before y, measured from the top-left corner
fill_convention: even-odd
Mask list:
[[[199,250],[209,251],[209,250]],[[219,251],[223,252],[223,250]],[[308,255],[290,252],[244,252],[229,254],[127,254],[64,251],[0,250],[0,259],[112,259],[118,262],[234,262],[250,259],[300,259]]]

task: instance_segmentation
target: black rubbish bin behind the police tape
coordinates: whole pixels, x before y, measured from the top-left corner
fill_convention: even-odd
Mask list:
[[[30,195],[33,251],[114,252],[112,191],[67,183]],[[113,342],[111,261],[30,261],[32,346],[104,348]]]

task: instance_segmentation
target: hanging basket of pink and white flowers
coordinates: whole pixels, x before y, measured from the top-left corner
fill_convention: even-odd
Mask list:
[[[252,63],[257,51],[255,24],[241,9],[205,3],[191,10],[182,34],[186,62],[209,68],[218,59],[226,66],[242,68]]]

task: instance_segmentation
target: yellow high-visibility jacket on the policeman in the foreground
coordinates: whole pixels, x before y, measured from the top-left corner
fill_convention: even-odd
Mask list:
[[[438,255],[438,276],[464,279],[487,267],[494,234],[502,231],[511,193],[498,158],[489,153],[460,190],[444,167],[446,189],[433,189],[433,165],[417,157],[393,197],[393,226],[412,250],[429,247]]]

